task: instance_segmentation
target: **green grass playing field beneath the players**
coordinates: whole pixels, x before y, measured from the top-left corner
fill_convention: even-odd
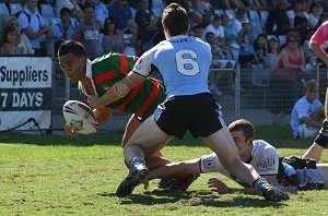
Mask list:
[[[281,156],[302,155],[311,140],[293,140],[288,125],[259,127],[257,137],[273,144]],[[115,191],[128,170],[122,163],[121,134],[79,137],[0,134],[0,215],[328,215],[328,191],[301,191],[281,203],[256,195],[211,192],[201,175],[187,192],[155,192],[138,187],[131,196]],[[201,140],[187,135],[163,149],[173,160],[210,153]],[[328,163],[324,152],[323,163]],[[237,187],[223,178],[229,185]]]

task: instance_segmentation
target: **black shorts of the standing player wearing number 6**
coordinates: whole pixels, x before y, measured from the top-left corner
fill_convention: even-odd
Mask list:
[[[210,93],[171,97],[159,105],[154,118],[162,131],[178,139],[187,130],[194,137],[206,137],[225,125],[221,107]]]

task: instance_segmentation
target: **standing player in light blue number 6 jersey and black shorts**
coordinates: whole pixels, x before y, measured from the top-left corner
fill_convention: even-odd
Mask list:
[[[250,165],[238,157],[234,142],[220,115],[220,107],[208,88],[211,65],[209,44],[188,36],[188,13],[177,3],[163,12],[162,24],[166,40],[143,53],[133,70],[114,84],[102,97],[91,97],[90,105],[102,108],[125,97],[149,76],[151,65],[159,69],[166,86],[166,99],[159,105],[154,117],[148,118],[125,146],[125,159],[130,166],[128,177],[120,183],[119,197],[132,193],[143,183],[148,187],[149,169],[144,155],[152,155],[174,136],[181,139],[187,130],[201,136],[223,166],[257,194],[268,200],[288,200],[289,195],[270,185]]]

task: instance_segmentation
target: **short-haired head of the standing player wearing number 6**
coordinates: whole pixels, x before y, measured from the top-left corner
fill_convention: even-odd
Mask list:
[[[171,36],[185,35],[189,29],[188,13],[178,3],[171,3],[163,11],[162,24],[167,26]]]

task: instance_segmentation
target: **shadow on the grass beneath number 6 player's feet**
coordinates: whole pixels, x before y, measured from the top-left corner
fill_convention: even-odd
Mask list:
[[[103,193],[103,196],[115,197],[115,193]],[[227,196],[227,197],[224,197]],[[211,206],[211,207],[280,207],[288,205],[284,202],[271,202],[260,196],[251,195],[213,195],[212,192],[144,192],[131,194],[120,200],[120,204],[156,205],[174,203],[181,206]]]

